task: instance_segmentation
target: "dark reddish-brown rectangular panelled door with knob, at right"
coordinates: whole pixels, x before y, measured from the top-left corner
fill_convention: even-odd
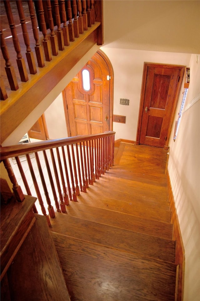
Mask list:
[[[152,65],[144,66],[139,143],[163,148],[171,133],[184,66]]]

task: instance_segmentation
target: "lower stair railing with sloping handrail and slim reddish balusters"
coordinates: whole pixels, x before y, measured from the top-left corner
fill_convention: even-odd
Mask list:
[[[41,211],[50,224],[46,209],[51,218],[55,217],[54,210],[65,213],[69,200],[76,202],[80,191],[86,192],[113,166],[114,135],[109,131],[1,147],[1,161],[17,201],[23,202],[24,194],[37,196],[40,208],[34,206],[33,211]]]

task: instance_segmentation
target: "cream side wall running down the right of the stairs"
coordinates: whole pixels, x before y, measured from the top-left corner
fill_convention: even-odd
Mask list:
[[[199,55],[200,58],[200,55]],[[185,248],[184,301],[200,298],[200,62],[191,56],[190,85],[168,171]],[[182,98],[180,99],[181,102]],[[193,100],[196,100],[194,103]],[[176,116],[180,109],[180,102]],[[191,107],[190,104],[194,103]]]

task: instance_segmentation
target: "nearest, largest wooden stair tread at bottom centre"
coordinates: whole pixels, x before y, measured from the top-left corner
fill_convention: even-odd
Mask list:
[[[176,265],[52,232],[72,301],[174,301]]]

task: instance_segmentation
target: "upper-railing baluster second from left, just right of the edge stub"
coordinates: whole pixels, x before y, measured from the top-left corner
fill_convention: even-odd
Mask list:
[[[5,70],[8,77],[8,82],[11,90],[16,91],[19,88],[19,86],[17,83],[14,67],[11,65],[10,62],[10,56],[9,56],[8,48],[6,46],[6,42],[4,40],[2,26],[1,26],[0,36],[1,36],[1,51],[2,51],[3,58],[5,60],[5,65],[6,65]]]

